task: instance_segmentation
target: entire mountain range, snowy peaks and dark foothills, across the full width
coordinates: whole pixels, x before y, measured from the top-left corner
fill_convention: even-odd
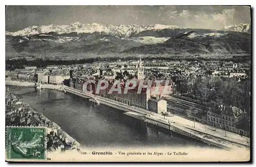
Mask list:
[[[234,32],[241,31],[243,33]],[[174,25],[98,23],[30,26],[6,32],[6,52],[24,53],[244,53],[250,52],[250,24],[224,30]]]

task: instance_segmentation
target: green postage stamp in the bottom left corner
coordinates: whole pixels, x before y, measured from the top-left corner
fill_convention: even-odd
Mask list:
[[[6,127],[7,159],[45,160],[46,129],[44,127]]]

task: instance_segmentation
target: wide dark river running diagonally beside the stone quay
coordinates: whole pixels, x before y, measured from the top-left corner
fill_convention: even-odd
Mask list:
[[[86,147],[181,147],[209,148],[207,144],[122,114],[120,110],[93,105],[87,99],[56,90],[26,88],[10,91],[22,97],[36,112],[57,123]]]

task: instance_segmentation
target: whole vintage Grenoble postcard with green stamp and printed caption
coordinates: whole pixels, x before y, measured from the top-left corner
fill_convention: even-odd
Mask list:
[[[250,6],[6,6],[5,155],[251,160]]]

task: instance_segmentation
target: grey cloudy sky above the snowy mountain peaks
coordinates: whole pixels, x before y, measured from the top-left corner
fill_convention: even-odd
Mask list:
[[[32,25],[101,23],[113,25],[177,25],[221,30],[250,23],[248,6],[7,6],[6,31]]]

